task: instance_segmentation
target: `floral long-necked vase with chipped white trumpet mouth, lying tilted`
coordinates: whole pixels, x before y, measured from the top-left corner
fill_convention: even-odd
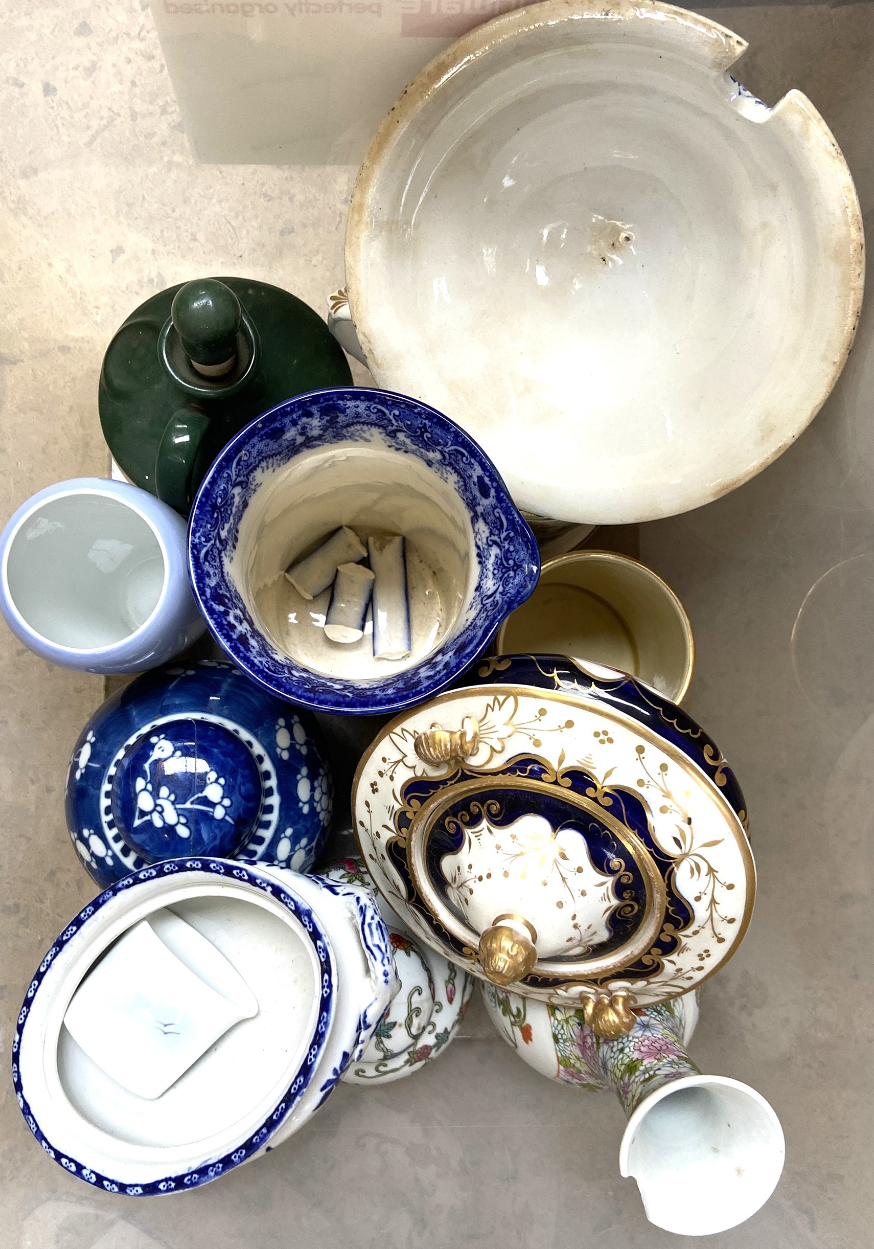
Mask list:
[[[768,1200],[783,1170],[783,1129],[760,1093],[705,1075],[689,1058],[694,992],[634,1010],[631,1029],[616,1039],[598,1035],[573,1007],[489,983],[482,995],[497,1030],[534,1070],[618,1095],[628,1117],[619,1172],[637,1180],[651,1223],[709,1235]]]

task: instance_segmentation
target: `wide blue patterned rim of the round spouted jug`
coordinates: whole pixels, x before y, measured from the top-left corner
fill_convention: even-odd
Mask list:
[[[302,668],[261,633],[227,576],[240,521],[265,470],[313,447],[368,442],[413,455],[458,493],[471,515],[479,576],[458,633],[421,663],[378,682],[342,681]],[[220,646],[253,681],[303,707],[351,714],[402,711],[437,693],[479,654],[539,576],[534,535],[481,447],[436,408],[390,391],[311,391],[250,422],[207,472],[191,508],[189,570]]]

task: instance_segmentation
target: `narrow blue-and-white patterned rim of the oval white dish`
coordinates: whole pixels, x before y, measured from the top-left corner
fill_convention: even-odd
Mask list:
[[[39,1123],[31,1113],[27,1099],[24,1095],[17,1055],[21,1047],[21,1039],[24,1037],[24,1029],[27,1023],[27,1017],[30,1014],[31,1002],[39,992],[46,972],[52,965],[66,943],[81,931],[84,924],[86,924],[87,921],[101,909],[101,907],[105,907],[106,903],[117,894],[124,893],[134,886],[154,881],[156,877],[175,876],[180,872],[202,872],[205,874],[211,872],[215,876],[223,876],[232,878],[233,881],[242,881],[245,884],[251,884],[255,886],[255,888],[262,889],[265,893],[268,893],[272,898],[281,902],[283,907],[287,907],[287,909],[291,911],[297,919],[300,919],[303,928],[312,938],[322,985],[321,1007],[315,1029],[315,1039],[306,1053],[301,1068],[280,1099],[278,1105],[267,1115],[263,1123],[255,1133],[252,1133],[251,1137],[243,1140],[236,1149],[225,1154],[222,1158],[206,1163],[196,1170],[180,1175],[167,1175],[164,1179],[151,1180],[150,1183],[144,1184],[125,1184],[122,1180],[116,1180],[111,1177],[101,1175],[99,1172],[91,1170],[90,1167],[86,1167],[75,1158],[70,1158],[62,1150],[52,1145],[41,1130]],[[225,1175],[228,1170],[238,1167],[240,1163],[252,1158],[260,1149],[263,1148],[265,1143],[270,1140],[272,1134],[282,1124],[283,1119],[286,1119],[297,1105],[322,1058],[325,1045],[331,1033],[333,1009],[335,977],[331,969],[331,943],[310,907],[307,907],[298,898],[293,898],[278,882],[260,876],[257,872],[253,872],[251,868],[243,867],[240,863],[226,859],[205,858],[202,856],[191,859],[167,859],[165,863],[156,863],[154,867],[144,868],[140,872],[135,872],[131,876],[125,877],[124,881],[116,882],[116,884],[110,886],[109,889],[99,894],[92,902],[79,912],[75,919],[67,924],[40,963],[39,970],[31,980],[21,1005],[15,1028],[15,1039],[12,1042],[12,1083],[15,1085],[19,1108],[25,1118],[25,1123],[42,1145],[46,1154],[56,1162],[59,1167],[62,1167],[71,1175],[84,1180],[86,1184],[91,1184],[95,1188],[102,1188],[107,1193],[121,1193],[125,1197],[161,1197],[166,1193],[200,1188],[201,1184],[209,1184],[210,1180],[217,1179],[220,1175]]]

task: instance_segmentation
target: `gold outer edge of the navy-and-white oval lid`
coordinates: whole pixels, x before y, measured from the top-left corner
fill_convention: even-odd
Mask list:
[[[368,766],[371,757],[376,753],[377,749],[381,749],[383,747],[383,743],[392,733],[405,727],[406,722],[411,718],[411,714],[418,714],[420,712],[431,714],[436,707],[441,707],[444,703],[454,698],[458,698],[459,696],[463,694],[466,694],[468,698],[472,696],[477,698],[479,697],[499,698],[507,694],[516,694],[517,698],[518,697],[538,698],[541,701],[559,702],[564,703],[566,706],[573,706],[577,708],[579,708],[582,702],[582,698],[578,694],[569,694],[562,689],[543,689],[539,686],[511,686],[511,684],[463,686],[461,688],[448,689],[442,694],[437,694],[430,702],[423,703],[421,707],[417,707],[413,713],[406,711],[396,716],[395,719],[392,719],[388,724],[386,724],[385,728],[367,747],[367,749],[361,757],[361,762],[356,768],[355,778],[352,781],[352,831],[355,833],[355,839],[357,842],[358,849],[361,851],[361,856],[365,863],[368,862],[368,851],[362,844],[361,834],[358,832],[358,816],[357,816],[356,799],[358,796],[361,777],[365,772],[365,768]],[[743,914],[738,921],[737,928],[734,929],[733,937],[730,939],[729,948],[725,950],[724,955],[714,964],[714,967],[709,969],[709,972],[705,972],[699,979],[694,982],[695,985],[703,984],[704,980],[709,980],[709,978],[715,972],[718,972],[719,968],[724,967],[725,963],[728,963],[729,959],[733,958],[735,950],[739,948],[739,945],[743,942],[743,938],[747,934],[747,929],[749,928],[749,922],[753,917],[753,907],[755,904],[755,862],[753,859],[753,852],[750,851],[749,847],[749,841],[747,839],[747,833],[744,831],[743,824],[738,819],[737,812],[733,809],[725,796],[719,791],[719,788],[715,786],[712,778],[708,777],[707,773],[703,772],[688,757],[688,754],[684,754],[683,751],[675,747],[672,742],[664,741],[662,737],[658,736],[658,733],[654,733],[652,729],[647,728],[646,724],[641,724],[631,716],[627,716],[626,713],[618,711],[614,707],[611,707],[607,703],[598,703],[598,714],[603,716],[608,721],[613,721],[613,723],[616,724],[622,724],[623,728],[629,728],[633,732],[638,733],[651,746],[654,746],[657,749],[663,751],[664,754],[667,754],[667,757],[672,759],[674,763],[677,763],[684,772],[690,773],[692,776],[695,777],[695,779],[703,783],[705,792],[709,794],[710,799],[715,801],[715,804],[719,808],[722,808],[723,817],[725,818],[727,823],[732,827],[732,831],[734,833],[734,842],[739,849],[744,869],[745,896],[744,896]],[[370,849],[372,852],[373,848],[370,847]],[[390,906],[396,904],[392,903],[391,898],[387,898],[386,901],[390,903]],[[436,937],[435,940],[437,940]],[[441,949],[443,950],[443,953],[446,953],[446,947],[443,943],[441,943]],[[658,987],[658,980],[653,982],[653,988],[657,987]],[[679,993],[665,993],[664,1000],[672,997],[679,997],[684,992],[685,989],[680,989]]]

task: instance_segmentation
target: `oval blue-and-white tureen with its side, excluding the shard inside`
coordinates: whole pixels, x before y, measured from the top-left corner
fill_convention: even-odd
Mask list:
[[[260,928],[252,928],[253,917],[241,917],[241,904],[258,908]],[[248,967],[248,974],[263,958],[265,940],[272,943],[276,967],[288,957],[277,944],[278,921],[283,940],[300,948],[311,974],[290,964],[297,1005],[285,1002],[290,983],[281,992],[250,983],[257,1015],[232,1027],[161,1098],[134,1095],[131,1102],[77,1050],[64,1018],[116,938],[166,908],[232,967],[242,958],[238,969]],[[96,1188],[129,1197],[197,1188],[275,1148],[312,1117],[348,1062],[366,1049],[395,983],[385,924],[363,889],[341,894],[287,869],[206,857],[144,868],[94,898],[40,963],[12,1044],[19,1107],[49,1157]],[[210,1093],[216,1079],[223,1090],[219,1103]],[[171,1104],[161,1105],[165,1099]]]

